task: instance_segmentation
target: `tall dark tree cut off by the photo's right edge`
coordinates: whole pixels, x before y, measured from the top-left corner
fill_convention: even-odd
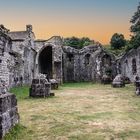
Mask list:
[[[140,3],[130,22],[132,23],[130,30],[133,35],[131,37],[129,47],[138,48],[140,46]]]

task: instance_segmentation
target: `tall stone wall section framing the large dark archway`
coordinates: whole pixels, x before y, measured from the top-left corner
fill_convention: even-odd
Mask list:
[[[54,36],[49,40],[38,40],[35,41],[35,50],[37,52],[35,60],[35,77],[41,72],[41,66],[39,62],[39,57],[41,53],[47,49],[52,49],[52,76],[51,79],[56,79],[59,83],[62,83],[62,39],[59,36]],[[46,54],[48,52],[46,51]],[[46,58],[46,61],[48,58]],[[42,73],[47,74],[47,73]]]

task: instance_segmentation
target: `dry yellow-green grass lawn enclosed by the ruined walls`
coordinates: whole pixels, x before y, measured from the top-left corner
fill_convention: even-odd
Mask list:
[[[140,97],[134,85],[112,88],[92,83],[64,84],[56,96],[28,97],[14,88],[20,124],[5,140],[139,140]]]

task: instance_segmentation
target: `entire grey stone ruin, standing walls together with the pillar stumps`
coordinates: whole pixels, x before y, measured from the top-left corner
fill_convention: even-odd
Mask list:
[[[47,75],[38,77],[39,74]],[[119,74],[119,75],[118,75]],[[121,74],[121,75],[120,75]],[[117,75],[117,76],[116,76]],[[108,53],[100,43],[77,50],[63,45],[63,38],[53,36],[37,40],[32,25],[25,31],[14,31],[0,25],[0,137],[18,123],[17,101],[7,87],[31,85],[31,97],[54,95],[64,82],[112,82],[113,87],[124,87],[140,77],[140,47],[131,49],[119,58]],[[51,80],[52,79],[52,80]],[[139,78],[136,78],[136,94],[140,94]]]

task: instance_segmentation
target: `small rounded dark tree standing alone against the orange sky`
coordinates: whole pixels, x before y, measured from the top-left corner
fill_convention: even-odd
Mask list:
[[[115,33],[111,38],[110,44],[113,49],[120,49],[124,47],[126,44],[124,35]]]

